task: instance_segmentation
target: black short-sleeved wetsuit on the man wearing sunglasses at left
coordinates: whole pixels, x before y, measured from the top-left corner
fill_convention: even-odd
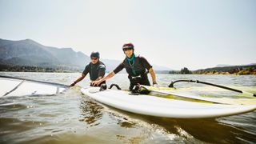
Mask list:
[[[90,74],[90,80],[91,81],[95,81],[98,77],[102,77],[103,78],[104,75],[105,75],[105,71],[106,71],[106,66],[105,66],[105,64],[103,62],[98,61],[95,64],[90,62],[86,66],[85,70],[83,70],[82,74],[86,75],[86,74],[89,73]],[[106,83],[106,81],[103,81],[102,83]]]

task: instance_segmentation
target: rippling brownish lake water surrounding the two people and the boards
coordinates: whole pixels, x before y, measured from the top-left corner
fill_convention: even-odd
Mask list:
[[[78,73],[10,73],[66,85]],[[256,76],[157,74],[158,85],[177,79],[198,79],[256,93]],[[81,94],[89,78],[56,96],[0,98],[0,143],[254,143],[256,111],[225,118],[178,119],[132,114],[102,105]],[[107,84],[128,89],[127,74],[117,74]],[[4,83],[1,83],[4,85]],[[181,82],[175,84],[194,93],[225,97],[234,94]],[[1,89],[1,87],[0,87]]]

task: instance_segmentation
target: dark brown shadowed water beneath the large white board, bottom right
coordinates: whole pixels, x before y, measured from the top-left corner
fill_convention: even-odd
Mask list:
[[[196,138],[202,142],[244,143],[256,142],[255,134],[234,126],[218,122],[214,118],[206,119],[170,119],[151,118],[153,123],[164,127],[171,134],[185,138]]]

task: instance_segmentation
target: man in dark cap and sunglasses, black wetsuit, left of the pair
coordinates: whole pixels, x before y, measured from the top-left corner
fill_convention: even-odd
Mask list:
[[[97,81],[104,77],[106,66],[103,62],[99,60],[99,53],[92,52],[90,54],[91,62],[86,66],[85,70],[82,72],[82,76],[79,77],[76,81],[74,81],[70,86],[74,86],[76,83],[82,81],[83,78],[86,77],[86,74],[90,74],[91,81]],[[106,81],[99,82],[98,86],[105,84]]]

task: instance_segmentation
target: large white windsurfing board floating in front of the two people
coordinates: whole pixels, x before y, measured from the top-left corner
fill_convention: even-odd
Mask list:
[[[84,87],[83,94],[90,98],[135,114],[166,118],[217,118],[243,114],[256,110],[256,105],[225,105],[200,102],[186,102],[149,95],[130,95],[123,90],[102,90],[98,87]]]

